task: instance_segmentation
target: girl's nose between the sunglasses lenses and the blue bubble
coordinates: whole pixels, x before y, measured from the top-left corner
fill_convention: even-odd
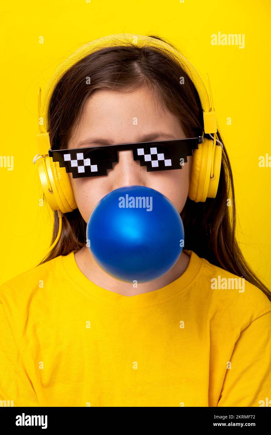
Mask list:
[[[124,186],[144,186],[147,171],[145,166],[140,166],[139,160],[134,160],[133,151],[118,151],[118,161],[109,169],[113,189]]]

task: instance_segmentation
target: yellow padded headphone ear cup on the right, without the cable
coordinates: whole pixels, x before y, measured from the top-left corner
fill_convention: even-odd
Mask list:
[[[219,148],[221,147],[219,146]],[[212,153],[213,153],[213,140],[209,140],[207,138],[204,138],[203,144],[198,145],[197,150],[193,150],[190,184],[189,184],[189,191],[188,191],[188,197],[192,201],[204,202],[206,201],[208,193],[214,194],[215,183],[212,184],[212,187],[210,188],[210,192],[209,192]],[[217,156],[219,157],[219,152],[217,153]],[[216,167],[218,167],[218,161],[219,158],[217,159]],[[219,179],[219,175],[218,175],[218,179]],[[215,182],[217,182],[217,186],[218,186],[217,178],[215,179]],[[215,191],[215,194],[216,192],[217,189]]]

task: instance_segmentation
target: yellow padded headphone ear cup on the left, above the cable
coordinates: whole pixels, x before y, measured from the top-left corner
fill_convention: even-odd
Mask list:
[[[58,162],[54,162],[52,157],[49,157],[48,155],[45,156],[47,174],[52,187],[52,191],[50,191],[41,159],[39,159],[38,162],[40,181],[50,208],[53,211],[61,210],[62,213],[68,213],[75,210],[77,204],[74,199],[74,193],[66,169],[60,167]]]

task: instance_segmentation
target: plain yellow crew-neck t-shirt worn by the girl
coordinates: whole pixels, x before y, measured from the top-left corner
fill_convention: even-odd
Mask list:
[[[74,252],[2,284],[0,405],[271,406],[271,302],[185,252],[181,277],[136,296]]]

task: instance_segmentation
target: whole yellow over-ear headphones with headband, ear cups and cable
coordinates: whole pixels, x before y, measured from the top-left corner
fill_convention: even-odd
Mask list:
[[[219,145],[217,145],[216,114],[214,111],[208,74],[207,82],[210,100],[207,89],[193,65],[169,44],[156,38],[132,33],[105,36],[84,44],[57,67],[57,70],[54,72],[53,76],[49,80],[49,83],[47,84],[42,101],[41,89],[39,89],[38,92],[38,154],[34,157],[33,163],[36,163],[36,161],[38,162],[38,170],[44,195],[50,208],[54,211],[57,210],[59,216],[59,230],[57,238],[50,246],[50,249],[54,248],[55,244],[57,244],[57,241],[60,238],[63,213],[68,213],[77,208],[66,169],[64,167],[60,167],[59,163],[54,162],[52,157],[49,157],[48,155],[48,151],[51,147],[48,131],[50,98],[60,78],[63,77],[66,71],[76,64],[80,59],[90,53],[93,53],[94,51],[100,50],[101,48],[112,47],[116,45],[126,45],[127,42],[136,43],[139,47],[144,47],[147,45],[169,50],[177,57],[181,66],[193,81],[200,97],[201,107],[203,109],[204,133],[210,135],[213,134],[211,137],[214,139],[204,138],[203,144],[199,144],[198,149],[193,151],[188,197],[195,202],[204,202],[207,197],[214,198],[217,194],[223,145],[219,141]]]

